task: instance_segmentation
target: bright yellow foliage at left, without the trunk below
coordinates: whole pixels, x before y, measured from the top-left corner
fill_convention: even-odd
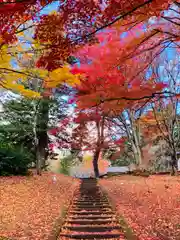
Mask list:
[[[41,52],[41,45],[31,37],[20,34],[21,41],[11,46],[0,46],[0,87],[11,90],[28,98],[42,97],[42,88],[52,89],[61,84],[78,84],[78,75],[70,73],[70,67],[65,64],[52,72],[35,66]],[[23,42],[30,42],[30,47]],[[30,89],[28,82],[39,85],[38,88]]]

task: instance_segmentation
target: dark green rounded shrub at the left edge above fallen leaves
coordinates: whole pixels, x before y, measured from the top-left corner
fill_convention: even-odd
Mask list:
[[[32,159],[32,154],[22,147],[1,144],[0,175],[26,175],[28,165],[32,162]]]

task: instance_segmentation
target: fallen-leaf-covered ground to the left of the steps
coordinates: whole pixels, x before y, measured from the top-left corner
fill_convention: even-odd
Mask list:
[[[0,237],[46,240],[79,182],[45,173],[0,178]]]

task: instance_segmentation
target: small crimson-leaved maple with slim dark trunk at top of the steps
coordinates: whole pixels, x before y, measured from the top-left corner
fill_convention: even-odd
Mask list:
[[[72,123],[73,122],[73,123]],[[79,111],[76,109],[75,116],[67,116],[49,133],[56,139],[51,147],[68,148],[74,157],[83,161],[86,152],[93,154],[94,173],[99,177],[99,159],[104,149],[116,147],[112,139],[113,132],[106,115],[100,109]]]

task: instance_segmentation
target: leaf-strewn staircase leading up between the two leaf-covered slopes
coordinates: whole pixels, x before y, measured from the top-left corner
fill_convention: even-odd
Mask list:
[[[125,240],[107,197],[96,179],[83,179],[67,213],[59,240],[119,239]]]

